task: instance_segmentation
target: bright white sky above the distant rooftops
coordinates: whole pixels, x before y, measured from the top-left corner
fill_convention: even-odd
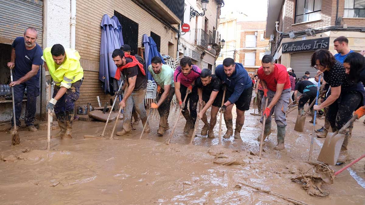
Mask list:
[[[268,0],[224,0],[224,3],[220,18],[230,12],[237,11],[244,13],[249,19],[266,21]]]

